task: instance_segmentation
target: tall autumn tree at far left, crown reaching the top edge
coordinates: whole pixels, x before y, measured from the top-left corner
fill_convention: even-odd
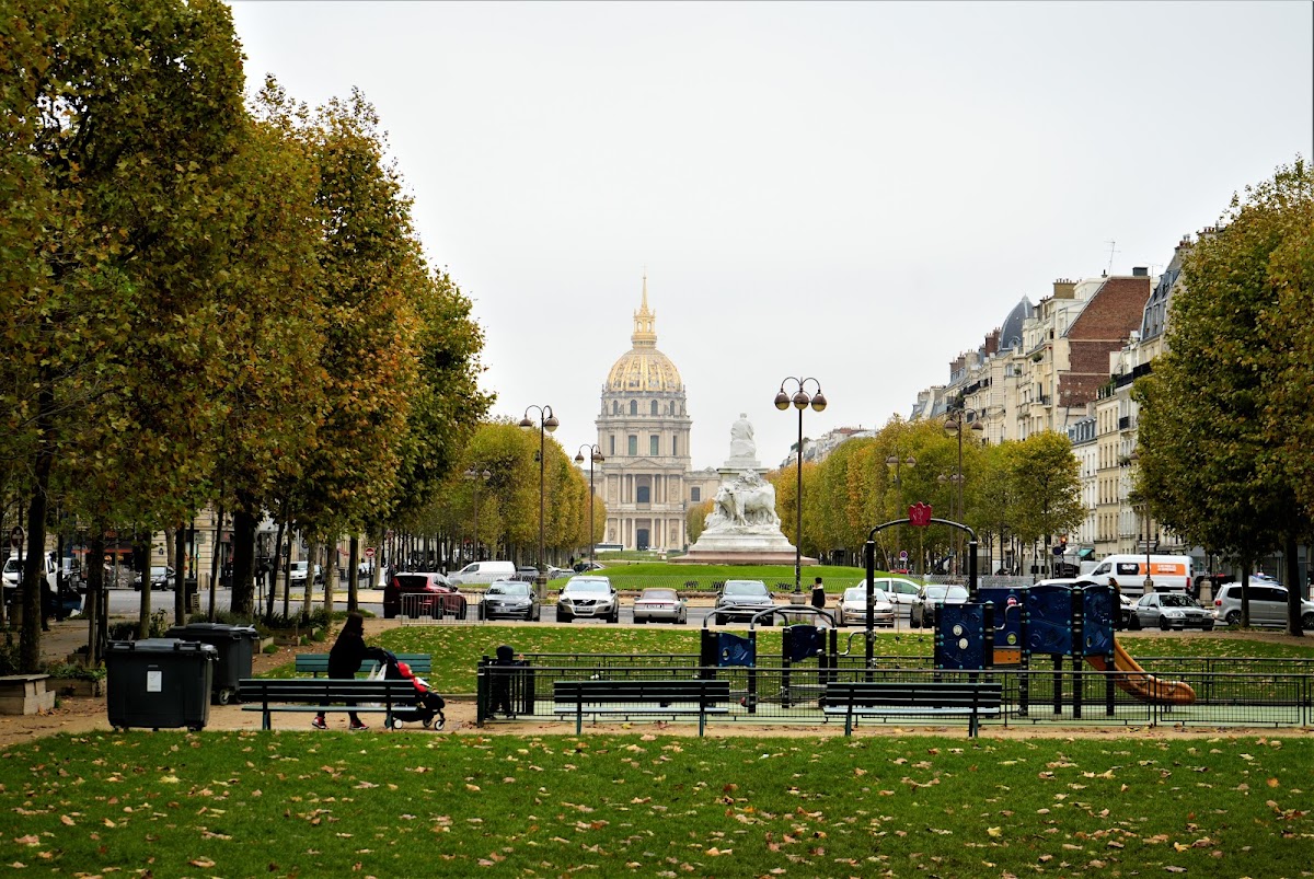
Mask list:
[[[208,222],[222,210],[215,171],[234,150],[242,79],[219,3],[20,5],[16,45],[39,56],[17,59],[7,116],[22,120],[9,145],[33,172],[18,204],[41,206],[25,248],[41,265],[14,269],[33,282],[11,313],[18,381],[3,402],[29,468],[21,654],[34,669],[35,562],[59,468],[99,477],[121,520],[177,522],[204,495],[221,411],[201,342],[225,258]]]

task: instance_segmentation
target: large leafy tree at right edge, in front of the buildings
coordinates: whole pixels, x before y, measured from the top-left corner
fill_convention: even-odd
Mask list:
[[[1141,378],[1138,489],[1156,519],[1242,561],[1310,533],[1314,171],[1297,160],[1235,196],[1183,264],[1167,352]],[[1248,615],[1243,579],[1243,612]],[[1301,632],[1300,590],[1289,631]]]

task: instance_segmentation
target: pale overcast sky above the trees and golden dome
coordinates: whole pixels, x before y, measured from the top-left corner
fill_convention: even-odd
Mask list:
[[[494,414],[573,455],[657,347],[719,465],[907,417],[1055,279],[1152,272],[1234,192],[1311,158],[1311,4],[233,4],[248,89],[359,87],[426,251],[474,304]],[[1110,243],[1116,242],[1116,243]],[[811,384],[809,384],[811,388]]]

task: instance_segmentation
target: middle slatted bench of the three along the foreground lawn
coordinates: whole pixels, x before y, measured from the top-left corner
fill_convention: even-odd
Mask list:
[[[576,734],[589,715],[698,715],[698,734],[703,734],[707,715],[724,715],[729,708],[729,681],[556,681],[552,685],[556,713],[574,715]]]

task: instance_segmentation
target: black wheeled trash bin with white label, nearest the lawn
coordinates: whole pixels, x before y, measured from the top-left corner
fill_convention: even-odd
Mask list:
[[[105,653],[109,725],[204,729],[218,652],[177,639],[110,641]]]

